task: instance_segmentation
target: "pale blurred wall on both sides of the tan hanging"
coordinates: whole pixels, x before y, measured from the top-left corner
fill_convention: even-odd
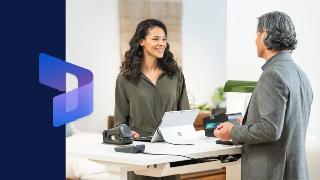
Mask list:
[[[182,5],[182,68],[187,88],[200,105],[226,82],[227,2],[185,0]],[[66,61],[94,75],[94,111],[75,121],[82,131],[100,133],[107,128],[108,115],[114,114],[120,66],[118,9],[117,0],[66,1]],[[72,78],[67,77],[69,90],[77,87]]]

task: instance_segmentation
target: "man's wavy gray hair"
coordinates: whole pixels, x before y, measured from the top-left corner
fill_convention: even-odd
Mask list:
[[[257,31],[262,33],[262,29],[265,29],[267,32],[263,39],[267,49],[287,50],[290,53],[296,49],[298,41],[296,40],[295,26],[288,15],[273,11],[257,19]]]

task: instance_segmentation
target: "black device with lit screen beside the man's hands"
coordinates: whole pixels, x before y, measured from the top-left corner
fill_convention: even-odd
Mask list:
[[[243,118],[241,112],[237,113],[222,113],[222,114],[215,114],[211,115],[209,117],[203,118],[203,126],[205,135],[207,137],[215,137],[214,130],[217,128],[217,126],[223,122],[230,122],[234,125],[240,125],[240,123],[237,121],[237,117]]]

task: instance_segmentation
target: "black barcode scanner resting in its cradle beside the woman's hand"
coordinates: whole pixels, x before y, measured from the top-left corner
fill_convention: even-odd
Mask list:
[[[120,136],[120,139],[112,139],[112,135],[118,135]],[[126,124],[121,124],[118,127],[104,130],[102,132],[102,137],[103,144],[126,145],[132,144],[134,141],[131,130]]]

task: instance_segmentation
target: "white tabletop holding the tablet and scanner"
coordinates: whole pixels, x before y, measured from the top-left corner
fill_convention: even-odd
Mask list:
[[[119,145],[107,145],[101,143],[88,143],[77,145],[66,145],[66,156],[75,158],[84,158],[90,160],[107,161],[114,163],[132,164],[132,165],[153,165],[175,161],[190,160],[189,158],[171,155],[183,155],[191,158],[203,158],[225,154],[241,153],[241,146],[229,146],[216,144],[217,138],[205,137],[204,131],[197,131],[199,141],[191,141],[181,144],[194,145],[171,145],[165,142],[138,142],[133,144],[145,144],[146,153],[170,154],[170,155],[148,155],[115,152],[114,148]],[[102,139],[102,135],[101,135]],[[169,141],[170,142],[170,141]]]

